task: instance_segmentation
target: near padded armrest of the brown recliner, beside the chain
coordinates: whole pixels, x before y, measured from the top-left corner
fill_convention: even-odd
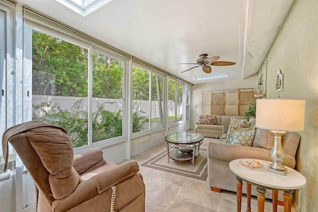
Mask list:
[[[114,167],[113,169],[97,174],[94,177],[91,177],[90,179],[80,183],[71,195],[60,200],[55,200],[52,204],[52,211],[62,212],[70,210],[79,204],[92,199],[107,189],[110,189],[112,186],[116,186],[133,177],[135,179],[133,179],[134,182],[129,182],[130,186],[135,191],[140,190],[142,188],[139,187],[141,187],[143,182],[139,175],[137,175],[138,171],[139,166],[137,162],[128,161],[124,164]],[[136,192],[135,195],[140,194],[137,194]],[[130,196],[131,198],[135,198],[132,194],[130,194]]]

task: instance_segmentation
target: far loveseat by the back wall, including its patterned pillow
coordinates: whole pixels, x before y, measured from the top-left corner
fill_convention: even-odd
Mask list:
[[[194,122],[194,131],[202,133],[205,137],[221,138],[224,126],[229,126],[231,115],[199,115],[198,120]],[[233,116],[243,119],[244,116]]]

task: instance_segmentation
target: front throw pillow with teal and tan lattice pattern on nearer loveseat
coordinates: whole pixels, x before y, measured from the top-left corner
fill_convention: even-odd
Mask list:
[[[230,144],[252,146],[255,137],[256,128],[243,128],[240,130],[234,130]]]

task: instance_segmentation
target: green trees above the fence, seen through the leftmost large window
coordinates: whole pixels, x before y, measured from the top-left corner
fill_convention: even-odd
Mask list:
[[[87,97],[87,58],[87,49],[33,30],[33,94]]]

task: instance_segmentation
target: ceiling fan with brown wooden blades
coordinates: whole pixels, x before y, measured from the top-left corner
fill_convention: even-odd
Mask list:
[[[197,59],[196,63],[178,63],[178,64],[195,64],[195,65],[198,64],[198,66],[194,66],[192,68],[184,70],[183,72],[190,71],[191,69],[201,66],[202,70],[207,74],[210,74],[212,72],[211,66],[231,66],[236,64],[235,62],[217,61],[220,59],[220,56],[212,56],[212,57],[207,57],[207,56],[208,54],[200,54],[199,59]]]

